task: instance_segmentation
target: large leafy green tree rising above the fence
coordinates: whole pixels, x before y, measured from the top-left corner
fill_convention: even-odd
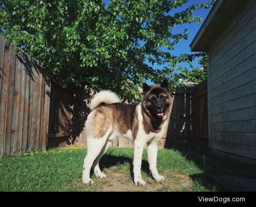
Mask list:
[[[172,28],[199,22],[193,12],[214,2],[192,5],[169,15],[187,0],[0,1],[1,34],[40,60],[64,86],[88,85],[111,89],[123,97],[138,96],[138,86],[151,79],[172,80],[174,68],[201,54],[174,56],[173,50],[188,31]],[[153,70],[145,63],[170,63]]]

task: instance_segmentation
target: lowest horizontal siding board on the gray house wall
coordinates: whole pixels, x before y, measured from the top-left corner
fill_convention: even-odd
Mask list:
[[[231,154],[256,159],[256,147],[254,146],[212,140],[211,147],[220,151],[229,152]]]

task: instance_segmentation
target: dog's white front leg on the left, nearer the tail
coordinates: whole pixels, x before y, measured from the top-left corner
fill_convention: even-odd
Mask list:
[[[135,140],[134,141],[134,158],[133,158],[133,173],[134,173],[134,182],[135,185],[146,185],[146,182],[142,179],[141,175],[141,162],[142,162],[142,153],[145,143]]]

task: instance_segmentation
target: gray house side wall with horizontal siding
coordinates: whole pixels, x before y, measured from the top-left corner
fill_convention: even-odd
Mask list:
[[[256,1],[208,45],[212,149],[256,159]]]

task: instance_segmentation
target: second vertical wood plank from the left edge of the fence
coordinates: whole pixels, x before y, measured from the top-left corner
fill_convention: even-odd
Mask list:
[[[6,42],[8,42],[6,40]],[[7,43],[9,44],[9,42]],[[11,150],[11,127],[12,127],[12,105],[13,105],[13,91],[14,91],[14,81],[15,81],[15,47],[14,44],[10,45],[10,75],[8,83],[8,99],[6,107],[6,125],[5,125],[5,152],[10,154]]]

